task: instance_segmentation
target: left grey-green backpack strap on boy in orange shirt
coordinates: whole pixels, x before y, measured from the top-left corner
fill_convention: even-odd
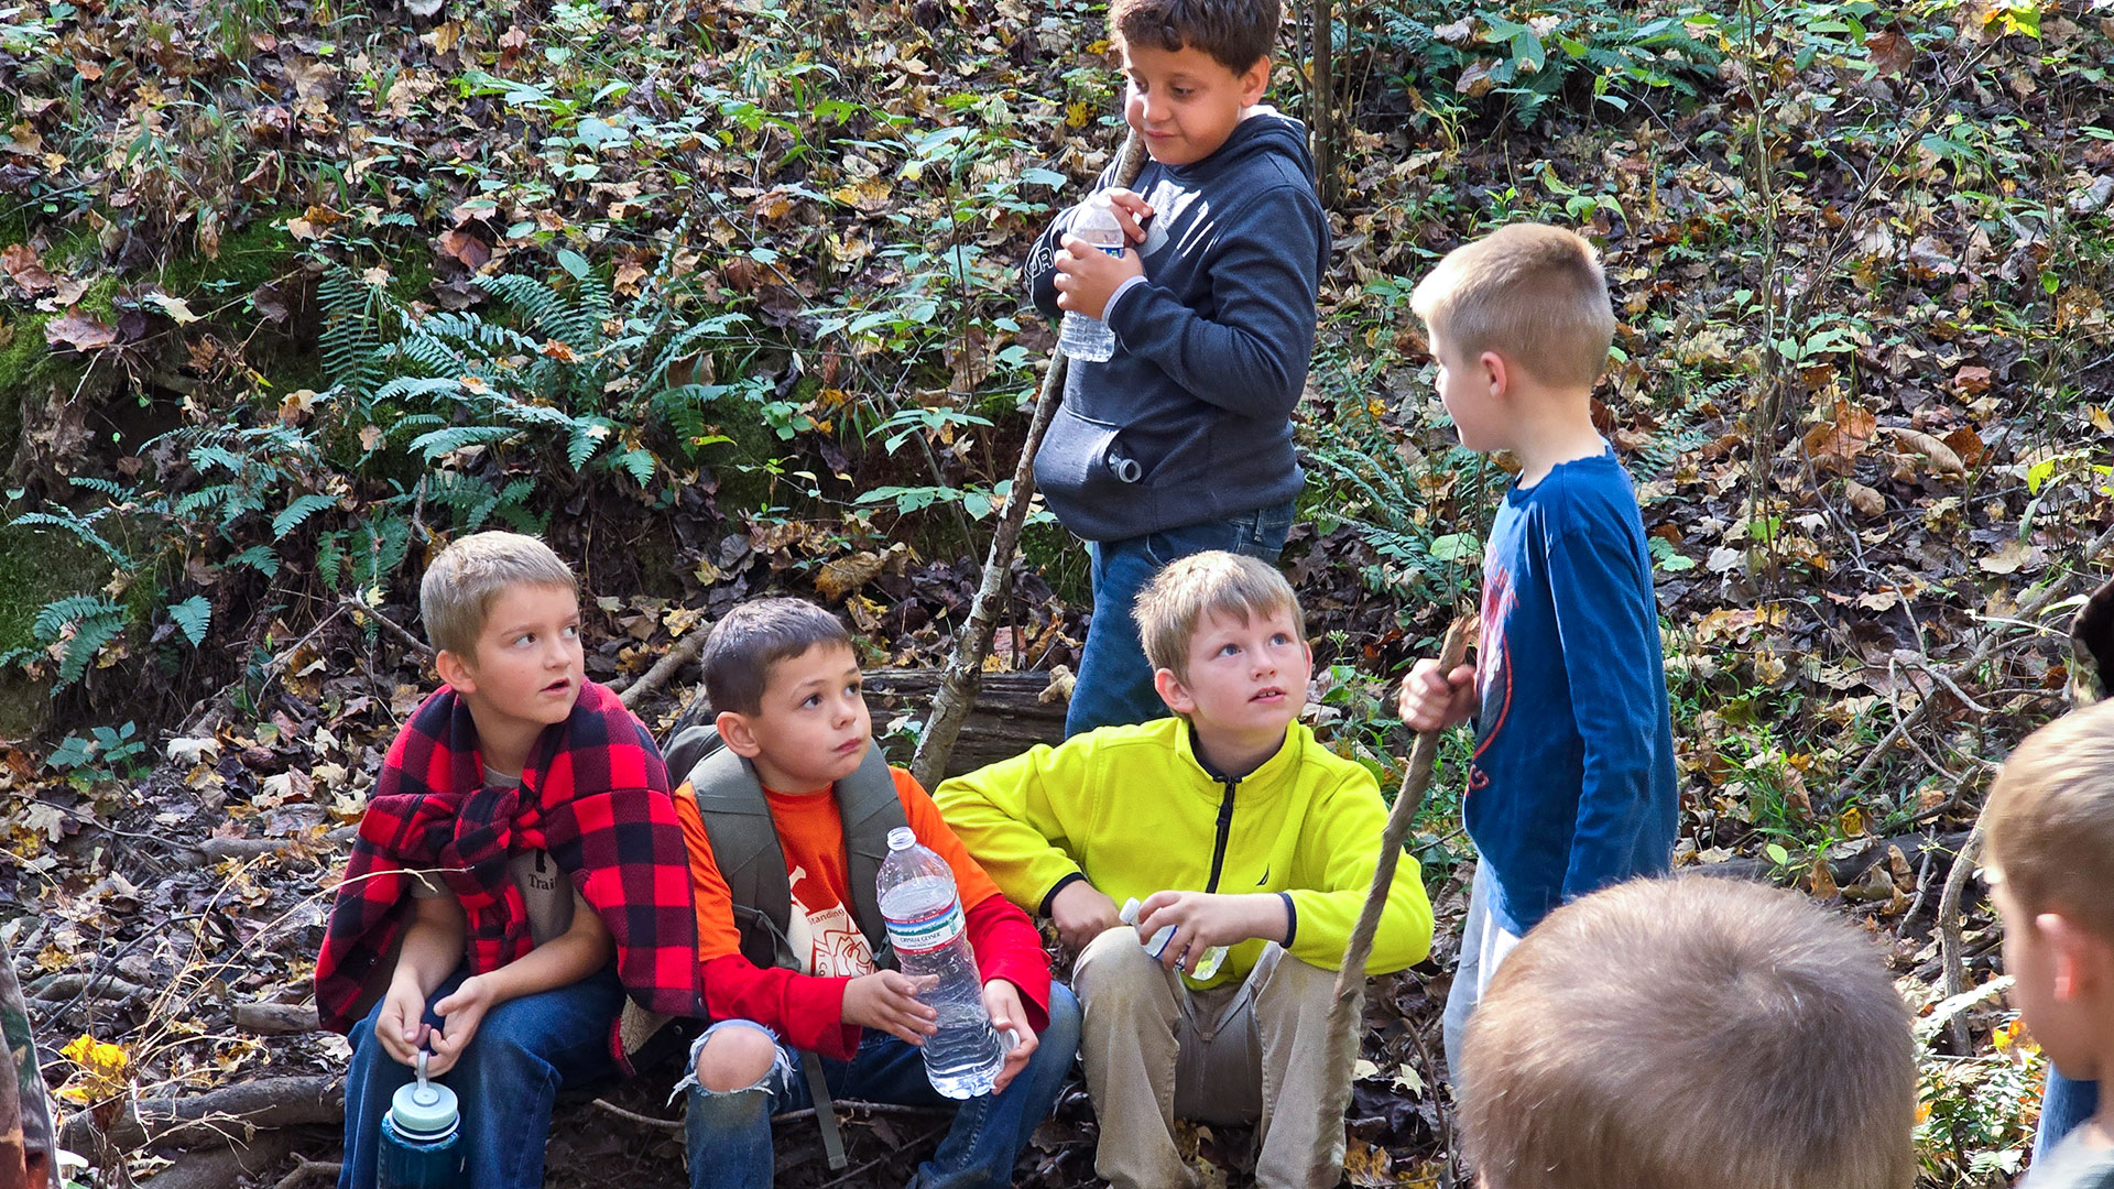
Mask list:
[[[704,732],[700,736],[698,732]],[[670,757],[691,760],[689,789],[698,798],[698,819],[712,842],[712,861],[727,880],[734,922],[742,931],[742,956],[759,967],[799,969],[786,941],[793,886],[786,857],[778,846],[778,825],[763,800],[757,770],[725,747],[710,726],[693,726],[668,745]],[[670,770],[681,770],[672,768]]]

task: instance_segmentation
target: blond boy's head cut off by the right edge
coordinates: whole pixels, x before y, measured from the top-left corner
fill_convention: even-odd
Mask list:
[[[2114,702],[2036,730],[1983,810],[2004,971],[2063,1077],[2114,1077]],[[2099,1140],[2114,1140],[2101,1087]]]

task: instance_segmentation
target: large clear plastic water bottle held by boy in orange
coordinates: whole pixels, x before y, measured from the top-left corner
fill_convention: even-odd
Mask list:
[[[917,1001],[939,1011],[939,1032],[926,1037],[926,1079],[947,1098],[991,1092],[1006,1051],[983,1007],[983,980],[968,950],[968,918],[953,891],[947,861],[917,844],[907,825],[888,831],[879,874],[882,918],[903,973],[932,986]]]

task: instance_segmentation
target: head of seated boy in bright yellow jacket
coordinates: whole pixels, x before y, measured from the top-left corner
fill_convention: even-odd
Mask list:
[[[1131,614],[1161,700],[1197,728],[1213,766],[1247,774],[1283,745],[1306,705],[1313,652],[1275,565],[1222,550],[1175,559]]]

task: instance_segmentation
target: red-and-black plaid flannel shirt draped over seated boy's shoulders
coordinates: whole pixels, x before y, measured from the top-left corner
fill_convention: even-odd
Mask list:
[[[315,963],[323,1026],[357,1024],[368,990],[391,973],[385,958],[410,916],[410,872],[435,872],[461,901],[471,973],[526,954],[528,912],[507,874],[520,850],[550,850],[573,876],[609,925],[617,975],[641,1007],[702,1013],[689,857],[653,736],[615,692],[588,681],[573,715],[537,738],[520,789],[495,789],[484,785],[469,705],[442,685],[389,747],[359,819]],[[615,1022],[611,1051],[628,1056]]]

